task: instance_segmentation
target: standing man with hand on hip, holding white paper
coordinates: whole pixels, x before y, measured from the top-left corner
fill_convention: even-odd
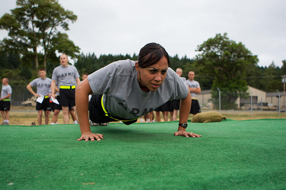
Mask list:
[[[49,117],[50,117],[50,111],[51,111],[51,105],[50,105],[50,86],[52,79],[46,77],[46,69],[41,68],[39,69],[39,78],[36,78],[32,80],[31,83],[27,85],[27,89],[29,92],[31,92],[34,96],[39,97],[39,96],[44,96],[43,102],[36,103],[36,110],[38,111],[38,123],[39,125],[42,125],[42,115],[43,115],[43,110],[45,112],[45,124],[49,124]],[[33,86],[37,87],[37,93],[34,92],[32,89]]]

